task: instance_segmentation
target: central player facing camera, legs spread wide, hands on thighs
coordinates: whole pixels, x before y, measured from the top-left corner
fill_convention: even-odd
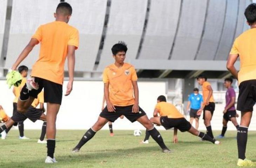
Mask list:
[[[87,141],[93,138],[108,121],[112,123],[124,115],[132,123],[138,121],[147,128],[149,134],[162,148],[164,153],[170,153],[160,133],[148,119],[146,113],[139,107],[139,89],[137,75],[133,65],[124,63],[127,46],[119,42],[112,47],[115,63],[103,71],[104,95],[107,106],[102,110],[96,123],[83,135],[73,152],[79,152]]]

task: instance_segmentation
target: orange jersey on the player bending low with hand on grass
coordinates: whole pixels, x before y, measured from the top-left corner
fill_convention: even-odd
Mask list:
[[[167,102],[157,103],[155,109],[158,110],[160,116],[167,116],[168,118],[184,118],[173,104]]]

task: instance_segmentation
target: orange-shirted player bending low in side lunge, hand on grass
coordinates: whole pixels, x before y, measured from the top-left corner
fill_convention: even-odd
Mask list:
[[[158,116],[158,113],[160,116]],[[220,141],[216,141],[211,138],[209,135],[197,131],[185,118],[184,116],[176,109],[176,107],[170,103],[166,102],[166,97],[161,95],[157,98],[157,104],[154,110],[154,117],[150,118],[150,121],[156,125],[162,125],[166,130],[174,128],[174,143],[178,142],[177,129],[181,132],[188,131],[189,133],[196,135],[204,140],[210,141],[213,144],[220,144]],[[148,140],[149,134],[146,131],[146,137],[144,141]],[[148,137],[147,137],[148,135]]]

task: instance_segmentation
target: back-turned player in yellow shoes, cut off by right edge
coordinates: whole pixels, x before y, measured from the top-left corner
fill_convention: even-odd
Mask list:
[[[241,111],[241,122],[237,130],[237,166],[253,166],[255,163],[245,158],[245,150],[248,127],[256,102],[256,3],[251,3],[245,9],[244,15],[250,29],[235,39],[229,53],[227,69],[238,79],[239,85],[236,109]],[[238,57],[240,57],[239,73],[234,66]]]

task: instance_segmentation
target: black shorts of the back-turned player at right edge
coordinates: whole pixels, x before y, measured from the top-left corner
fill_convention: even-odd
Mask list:
[[[253,111],[256,102],[256,79],[246,80],[239,85],[236,109],[242,112]]]

